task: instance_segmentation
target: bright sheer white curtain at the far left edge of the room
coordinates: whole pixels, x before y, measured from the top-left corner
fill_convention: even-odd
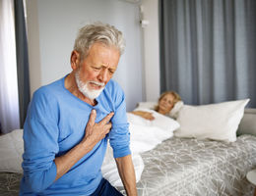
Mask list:
[[[0,123],[7,133],[20,127],[14,1],[0,0]]]

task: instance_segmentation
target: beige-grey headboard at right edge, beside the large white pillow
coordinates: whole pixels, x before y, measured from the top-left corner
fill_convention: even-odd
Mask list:
[[[237,130],[237,135],[241,134],[256,136],[256,108],[245,108],[244,116]]]

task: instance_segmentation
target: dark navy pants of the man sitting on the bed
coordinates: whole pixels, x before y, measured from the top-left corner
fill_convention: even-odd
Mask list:
[[[91,196],[123,196],[105,178],[102,178],[96,191]]]

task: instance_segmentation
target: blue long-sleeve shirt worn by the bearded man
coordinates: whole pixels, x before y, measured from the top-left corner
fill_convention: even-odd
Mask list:
[[[96,98],[95,107],[64,87],[65,77],[36,90],[24,125],[24,177],[20,195],[90,195],[99,184],[107,139],[115,158],[129,155],[129,130],[125,97],[112,79]],[[61,156],[84,137],[91,111],[96,123],[114,112],[110,132],[72,169],[56,177],[55,157]]]

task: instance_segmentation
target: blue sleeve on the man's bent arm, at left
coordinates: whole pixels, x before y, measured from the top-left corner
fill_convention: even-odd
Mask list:
[[[45,94],[35,92],[24,125],[23,169],[26,185],[32,192],[50,186],[57,172],[54,159],[58,153],[59,131],[53,117],[53,102]]]

